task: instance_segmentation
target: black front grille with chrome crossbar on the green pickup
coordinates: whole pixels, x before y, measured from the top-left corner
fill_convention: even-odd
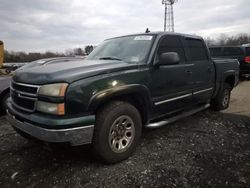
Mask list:
[[[11,82],[11,100],[15,108],[34,112],[39,86]]]

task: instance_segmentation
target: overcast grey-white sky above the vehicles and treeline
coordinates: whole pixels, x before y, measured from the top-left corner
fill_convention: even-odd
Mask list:
[[[250,33],[249,0],[179,0],[175,31],[216,37]],[[8,50],[64,51],[106,38],[163,30],[161,0],[0,0]]]

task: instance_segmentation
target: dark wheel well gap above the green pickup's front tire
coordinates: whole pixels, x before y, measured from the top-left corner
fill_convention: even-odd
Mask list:
[[[133,93],[133,94],[126,94],[126,95],[118,95],[111,97],[102,103],[100,103],[94,110],[94,113],[96,113],[100,108],[104,107],[106,104],[108,104],[111,101],[124,101],[127,102],[131,105],[133,105],[140,113],[141,119],[142,119],[142,124],[145,125],[148,120],[148,105],[146,103],[146,99],[144,96],[138,94],[138,93]]]

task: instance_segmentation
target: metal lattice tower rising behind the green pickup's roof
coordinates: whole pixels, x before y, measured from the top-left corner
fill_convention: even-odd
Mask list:
[[[162,4],[165,6],[164,17],[164,31],[174,32],[174,9],[173,5],[178,0],[162,0]]]

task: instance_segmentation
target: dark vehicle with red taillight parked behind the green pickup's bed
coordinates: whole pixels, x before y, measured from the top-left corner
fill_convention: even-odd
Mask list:
[[[240,62],[240,76],[250,74],[250,45],[210,47],[213,58],[231,58]]]

